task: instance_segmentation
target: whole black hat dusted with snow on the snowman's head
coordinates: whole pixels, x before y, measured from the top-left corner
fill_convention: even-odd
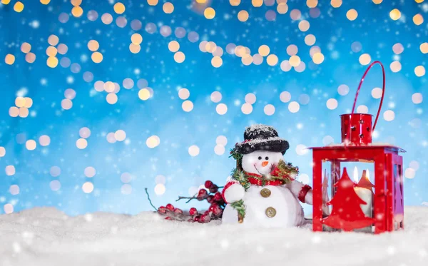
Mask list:
[[[236,143],[234,152],[248,154],[255,150],[266,150],[284,154],[288,148],[288,141],[278,137],[275,128],[256,124],[245,129],[244,141]]]

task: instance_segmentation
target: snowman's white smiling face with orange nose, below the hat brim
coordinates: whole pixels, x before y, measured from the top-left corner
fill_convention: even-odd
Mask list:
[[[247,173],[267,175],[281,159],[284,160],[284,157],[280,152],[256,150],[243,155],[243,170]]]

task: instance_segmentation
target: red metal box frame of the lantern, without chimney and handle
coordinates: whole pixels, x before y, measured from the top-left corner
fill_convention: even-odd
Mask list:
[[[374,232],[394,230],[394,216],[404,215],[394,203],[402,201],[402,156],[404,151],[393,145],[332,145],[311,148],[313,150],[313,230],[322,231],[322,163],[330,162],[331,182],[340,178],[340,164],[345,162],[374,163]],[[394,171],[394,169],[397,169]],[[397,176],[397,177],[396,177]],[[395,188],[401,189],[395,193]],[[333,187],[333,186],[332,186]],[[335,194],[332,188],[332,196]],[[395,198],[399,196],[400,198]],[[397,213],[398,212],[398,213]],[[404,228],[404,220],[397,229]]]

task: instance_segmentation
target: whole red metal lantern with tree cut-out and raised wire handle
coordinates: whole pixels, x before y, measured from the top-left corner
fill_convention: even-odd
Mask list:
[[[382,67],[383,86],[382,98],[372,127],[371,115],[354,111],[362,82],[376,63]],[[380,233],[404,229],[403,163],[402,156],[399,155],[399,152],[404,150],[394,145],[372,143],[372,133],[382,108],[384,89],[384,66],[379,61],[374,61],[362,76],[352,112],[340,116],[342,143],[311,148],[314,231],[356,230]],[[372,168],[374,185],[371,184],[366,170],[358,181],[357,172],[361,164],[366,165],[367,170]],[[346,165],[350,165],[348,169],[357,165],[354,170],[356,183],[347,174]],[[327,184],[328,177],[330,188]],[[329,198],[331,200],[328,200]]]

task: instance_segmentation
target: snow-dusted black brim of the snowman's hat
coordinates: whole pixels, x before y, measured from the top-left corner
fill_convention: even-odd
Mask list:
[[[241,154],[253,153],[255,150],[265,150],[272,151],[276,153],[285,154],[285,152],[290,148],[287,140],[282,138],[272,138],[263,141],[248,141],[243,143],[237,143],[235,145],[235,151]]]

